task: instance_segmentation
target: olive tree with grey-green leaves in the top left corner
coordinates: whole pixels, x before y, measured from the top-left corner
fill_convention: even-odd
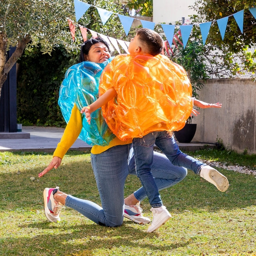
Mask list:
[[[0,1],[0,93],[4,81],[26,47],[41,44],[44,53],[70,44],[67,17],[75,15],[73,0]],[[6,61],[6,52],[16,47]]]

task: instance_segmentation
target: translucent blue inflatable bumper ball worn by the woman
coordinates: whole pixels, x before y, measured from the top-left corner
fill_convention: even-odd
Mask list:
[[[70,119],[74,104],[81,111],[82,107],[98,99],[100,75],[112,59],[100,64],[84,61],[67,70],[58,99],[58,105],[66,122]],[[97,109],[91,116],[91,124],[88,125],[84,114],[81,115],[83,128],[79,138],[89,145],[108,145],[115,135],[108,128],[101,109]]]

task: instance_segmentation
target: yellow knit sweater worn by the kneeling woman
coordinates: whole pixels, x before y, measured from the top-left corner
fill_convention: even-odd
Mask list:
[[[57,148],[53,153],[53,156],[60,157],[62,159],[64,155],[67,153],[68,149],[76,141],[77,137],[81,132],[81,129],[82,129],[81,113],[79,109],[76,107],[76,105],[74,105],[71,116],[70,116],[70,120],[67,123],[67,126],[64,130],[64,134],[62,135],[61,141],[58,143]],[[115,137],[113,140],[111,140],[108,146],[94,145],[91,149],[91,153],[100,154],[113,146],[126,145],[130,143],[132,143],[131,139],[122,141],[122,140],[119,140],[117,137]]]

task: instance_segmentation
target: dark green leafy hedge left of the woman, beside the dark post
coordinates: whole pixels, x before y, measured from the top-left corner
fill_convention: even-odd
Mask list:
[[[25,50],[17,68],[17,121],[23,125],[64,126],[58,90],[78,54],[55,48],[51,55],[40,47]]]

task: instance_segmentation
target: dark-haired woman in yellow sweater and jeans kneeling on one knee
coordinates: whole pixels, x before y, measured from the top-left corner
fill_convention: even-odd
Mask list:
[[[82,63],[85,65],[93,62],[100,64],[108,61],[110,56],[108,44],[102,38],[96,38],[84,42],[81,47],[80,61],[83,61]],[[211,107],[219,108],[221,105],[213,104]],[[82,119],[78,107],[74,105],[67,127],[53,154],[53,159],[49,166],[38,175],[39,177],[60,166],[64,154],[75,142],[83,128]],[[174,139],[173,141],[175,143]],[[120,226],[124,213],[125,217],[139,224],[149,223],[150,219],[144,217],[140,209],[140,201],[146,198],[143,188],[138,189],[124,200],[125,179],[128,174],[136,175],[134,157],[130,149],[131,141],[121,141],[116,137],[110,140],[109,145],[93,145],[91,163],[102,207],[91,201],[60,192],[58,188],[46,188],[44,190],[45,213],[49,221],[59,221],[59,210],[62,205],[66,205],[76,209],[96,224],[108,227]],[[177,165],[183,163],[189,166],[189,169],[194,170],[196,174],[200,173],[200,166],[206,166],[206,164],[183,154],[178,147],[175,147],[175,151],[169,157]],[[154,152],[151,171],[159,190],[175,185],[187,174],[186,168],[172,165],[167,157],[157,152]]]

